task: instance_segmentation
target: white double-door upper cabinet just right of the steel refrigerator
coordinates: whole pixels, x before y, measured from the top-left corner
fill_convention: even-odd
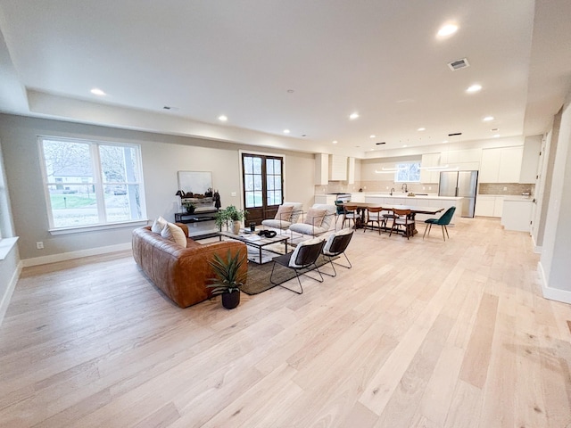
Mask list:
[[[518,183],[524,146],[484,149],[480,162],[480,183]]]

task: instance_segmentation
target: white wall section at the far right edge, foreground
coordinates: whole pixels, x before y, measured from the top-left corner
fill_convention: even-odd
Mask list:
[[[567,96],[559,125],[559,137],[550,185],[550,200],[545,218],[540,270],[543,295],[571,303],[571,93]],[[554,137],[553,137],[554,138]],[[552,138],[552,139],[553,139]],[[552,147],[554,146],[551,141]]]

